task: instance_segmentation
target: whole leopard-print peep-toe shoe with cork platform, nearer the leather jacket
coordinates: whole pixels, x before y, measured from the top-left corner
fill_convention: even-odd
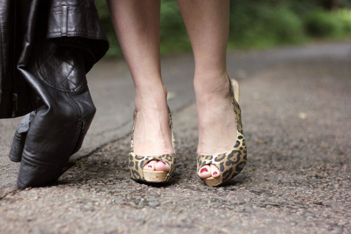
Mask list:
[[[133,136],[134,136],[134,128],[135,128],[135,118],[136,118],[137,111],[134,110],[133,112],[133,128],[132,128],[132,135],[130,141],[130,152],[129,152],[129,173],[130,178],[136,181],[143,181],[143,182],[152,182],[152,183],[161,183],[166,182],[169,180],[171,173],[175,167],[175,160],[177,158],[177,154],[175,154],[174,149],[174,136],[173,136],[173,125],[172,125],[172,116],[170,114],[170,110],[168,107],[168,115],[169,115],[169,127],[172,133],[172,144],[174,153],[172,154],[163,154],[163,155],[156,155],[156,156],[140,156],[134,153],[133,148]],[[168,171],[156,171],[156,170],[144,170],[143,167],[151,160],[162,160],[169,165]]]

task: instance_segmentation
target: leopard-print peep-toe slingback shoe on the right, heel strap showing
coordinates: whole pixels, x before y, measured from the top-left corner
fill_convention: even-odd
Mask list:
[[[239,106],[240,89],[239,84],[234,79],[229,79],[229,93],[232,98],[232,104],[237,124],[237,139],[234,147],[226,153],[218,155],[199,155],[197,154],[197,171],[206,164],[214,164],[218,167],[220,175],[218,177],[209,177],[203,179],[208,186],[218,186],[237,174],[246,164],[247,150],[244,137],[243,125],[241,122],[241,109]]]

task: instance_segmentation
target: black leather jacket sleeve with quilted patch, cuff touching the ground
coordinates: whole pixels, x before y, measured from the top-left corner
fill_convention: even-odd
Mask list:
[[[56,180],[70,166],[95,114],[82,52],[47,43],[41,46],[30,70],[44,103],[18,126],[10,159],[21,161],[21,188]]]

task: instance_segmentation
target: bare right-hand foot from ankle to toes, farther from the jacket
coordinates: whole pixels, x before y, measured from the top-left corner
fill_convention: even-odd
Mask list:
[[[235,144],[237,125],[229,85],[227,74],[221,78],[194,79],[199,116],[197,153],[200,155],[226,153]],[[206,164],[198,175],[200,178],[218,177],[220,171],[214,164]]]

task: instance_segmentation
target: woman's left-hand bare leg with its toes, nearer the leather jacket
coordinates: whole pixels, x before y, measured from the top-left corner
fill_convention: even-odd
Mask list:
[[[159,58],[159,0],[108,0],[112,22],[135,86],[137,110],[134,152],[137,155],[173,153],[167,91]],[[168,170],[162,161],[147,169]]]

